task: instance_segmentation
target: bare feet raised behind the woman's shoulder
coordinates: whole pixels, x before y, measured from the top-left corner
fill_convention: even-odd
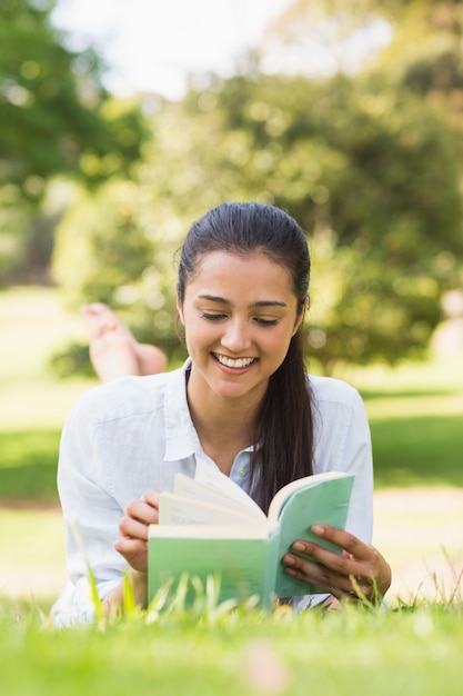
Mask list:
[[[89,327],[90,360],[101,381],[127,375],[155,375],[165,369],[162,350],[139,344],[108,305],[83,305],[81,312]]]

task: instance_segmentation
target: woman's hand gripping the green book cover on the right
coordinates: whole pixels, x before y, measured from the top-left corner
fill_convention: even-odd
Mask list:
[[[294,554],[285,554],[286,573],[315,585],[334,597],[381,603],[391,585],[391,568],[380,551],[349,531],[328,525],[313,525],[311,531],[342,549],[342,555],[298,539]],[[303,554],[301,556],[300,554]]]

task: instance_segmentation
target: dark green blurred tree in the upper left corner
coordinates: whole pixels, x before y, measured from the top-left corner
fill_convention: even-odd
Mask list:
[[[105,181],[130,167],[147,136],[138,106],[103,89],[95,53],[67,48],[53,7],[0,0],[0,271],[49,257],[53,221],[39,208],[51,177]]]

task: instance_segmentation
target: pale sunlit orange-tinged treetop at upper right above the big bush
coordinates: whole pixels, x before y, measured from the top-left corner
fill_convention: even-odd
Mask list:
[[[261,64],[271,70],[276,54],[292,73],[376,73],[461,132],[462,38],[462,0],[295,0],[268,27]]]

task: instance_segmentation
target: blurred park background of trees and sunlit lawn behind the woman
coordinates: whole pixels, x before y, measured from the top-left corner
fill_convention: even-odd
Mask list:
[[[460,596],[462,3],[274,3],[173,97],[112,89],[54,4],[0,3],[0,594],[47,605],[64,580],[59,432],[97,384],[79,305],[178,365],[175,250],[205,209],[253,199],[308,231],[310,368],[365,399],[392,603]]]

